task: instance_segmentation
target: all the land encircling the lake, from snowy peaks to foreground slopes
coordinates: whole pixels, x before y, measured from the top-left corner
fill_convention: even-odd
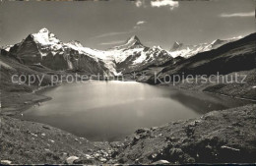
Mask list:
[[[42,28],[20,43],[3,46],[1,162],[8,159],[16,164],[185,164],[227,163],[235,158],[237,163],[255,163],[255,41],[256,33],[252,33],[198,45],[175,42],[170,50],[164,50],[160,46],[145,46],[134,35],[122,45],[96,50],[75,40],[65,43]],[[51,76],[76,73],[106,78],[123,76],[125,81],[174,87],[195,96],[202,91],[215,93],[250,104],[216,110],[201,118],[138,129],[124,140],[113,142],[90,141],[22,119],[25,110],[51,99],[41,94],[58,87],[59,83],[50,87]],[[217,74],[227,78],[239,75],[239,81],[242,76],[246,79],[244,83],[211,83],[217,80],[211,76]],[[38,75],[44,79],[40,86],[38,80],[32,85],[13,83],[14,75]],[[192,83],[170,80],[175,76],[192,76]],[[205,76],[204,81],[208,82],[203,83],[199,76]],[[241,157],[244,153],[246,157]],[[70,157],[75,158],[71,163],[67,160]]]

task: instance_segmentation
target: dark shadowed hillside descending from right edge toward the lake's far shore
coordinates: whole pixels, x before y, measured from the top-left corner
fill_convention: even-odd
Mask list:
[[[217,40],[218,41],[218,40]],[[247,35],[234,41],[222,41],[218,48],[202,51],[189,58],[176,57],[162,66],[153,66],[144,71],[158,71],[160,80],[164,76],[192,75],[227,75],[233,72],[250,71],[256,69],[256,33]],[[215,42],[211,44],[214,48]],[[209,47],[210,45],[208,45]],[[160,68],[160,69],[159,69]],[[149,75],[148,83],[156,83],[153,75]]]

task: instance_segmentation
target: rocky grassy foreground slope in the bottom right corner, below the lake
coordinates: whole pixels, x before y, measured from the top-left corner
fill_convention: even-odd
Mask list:
[[[256,105],[141,129],[120,147],[119,163],[255,163]]]

